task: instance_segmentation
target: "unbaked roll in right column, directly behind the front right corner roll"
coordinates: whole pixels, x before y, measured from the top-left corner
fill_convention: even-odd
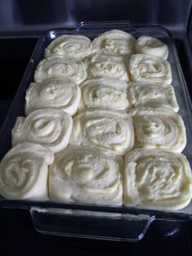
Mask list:
[[[182,152],[186,145],[185,125],[171,108],[133,108],[135,148],[159,148]]]

